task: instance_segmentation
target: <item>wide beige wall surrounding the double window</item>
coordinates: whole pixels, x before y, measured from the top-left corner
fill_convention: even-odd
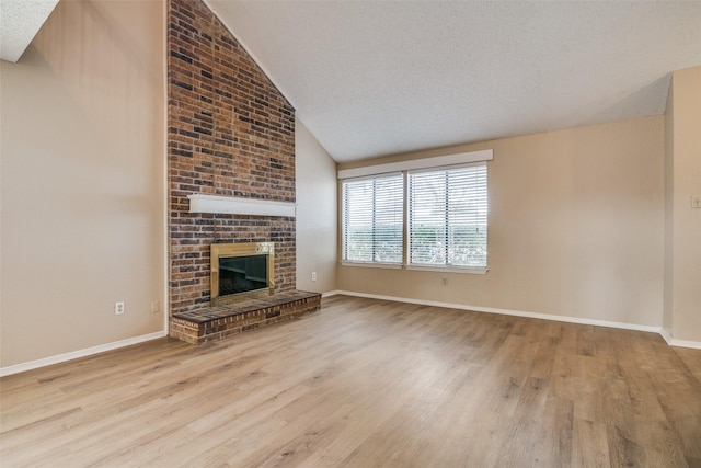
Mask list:
[[[493,148],[490,271],[338,266],[338,289],[659,327],[664,145],[656,116],[374,161]]]

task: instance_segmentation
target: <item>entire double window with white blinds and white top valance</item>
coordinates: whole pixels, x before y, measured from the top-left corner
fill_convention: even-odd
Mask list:
[[[340,170],[343,262],[485,273],[489,160],[480,150]]]

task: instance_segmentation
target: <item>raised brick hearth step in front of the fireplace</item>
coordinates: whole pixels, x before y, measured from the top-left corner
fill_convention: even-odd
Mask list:
[[[170,335],[192,344],[289,320],[321,308],[321,294],[290,290],[171,317]]]

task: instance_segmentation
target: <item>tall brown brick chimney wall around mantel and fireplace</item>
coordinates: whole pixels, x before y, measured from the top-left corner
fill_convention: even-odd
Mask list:
[[[295,202],[295,110],[200,0],[168,2],[171,313],[209,305],[209,246],[275,242],[295,289],[295,218],[189,214],[187,195]]]

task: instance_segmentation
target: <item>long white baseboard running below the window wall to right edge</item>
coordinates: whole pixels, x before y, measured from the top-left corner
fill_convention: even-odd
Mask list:
[[[463,304],[439,303],[435,300],[410,299],[406,297],[382,296],[378,294],[356,293],[353,290],[334,290],[326,294],[329,296],[343,294],[346,296],[366,297],[369,299],[392,300],[397,303],[407,303],[407,304],[420,304],[422,306],[445,307],[449,309],[472,310],[475,312],[499,313],[504,316],[527,317],[531,319],[553,320],[553,321],[567,322],[567,323],[579,323],[579,324],[587,324],[587,326],[611,327],[611,328],[623,329],[623,330],[644,331],[644,332],[660,334],[662,338],[667,342],[667,344],[673,346],[691,347],[696,350],[701,350],[701,343],[697,341],[675,340],[671,338],[669,332],[663,329],[662,327],[642,326],[637,323],[613,322],[608,320],[585,319],[581,317],[553,316],[551,313],[525,312],[521,310],[496,309],[493,307],[467,306]]]

